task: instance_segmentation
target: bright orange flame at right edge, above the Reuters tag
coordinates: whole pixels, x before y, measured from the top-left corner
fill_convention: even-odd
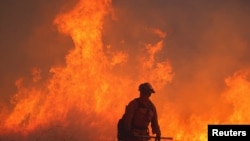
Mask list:
[[[250,122],[248,115],[248,103],[250,92],[250,70],[240,70],[233,74],[233,76],[225,80],[229,87],[223,98],[226,103],[231,105],[231,115],[228,122],[236,124],[246,124]]]

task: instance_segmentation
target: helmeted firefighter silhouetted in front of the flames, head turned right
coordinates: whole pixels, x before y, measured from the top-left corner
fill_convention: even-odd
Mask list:
[[[148,82],[139,85],[140,96],[130,101],[124,114],[124,126],[127,132],[126,141],[148,141],[149,126],[152,133],[156,134],[156,141],[160,141],[161,131],[158,124],[156,107],[150,100],[155,93]]]

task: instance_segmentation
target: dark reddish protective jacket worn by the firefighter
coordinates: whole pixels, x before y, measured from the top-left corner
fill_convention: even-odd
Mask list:
[[[131,135],[128,136],[126,141],[148,141],[149,139],[134,136],[148,136],[149,125],[151,125],[153,134],[160,133],[155,105],[149,99],[136,98],[132,100],[127,105],[124,114],[124,126],[126,131]]]

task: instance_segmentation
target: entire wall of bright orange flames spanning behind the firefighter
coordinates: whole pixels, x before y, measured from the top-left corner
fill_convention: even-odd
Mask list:
[[[39,68],[32,69],[31,81],[16,81],[13,110],[0,109],[0,139],[116,140],[117,120],[135,97],[138,84],[149,81],[164,92],[175,75],[168,59],[156,58],[166,33],[152,28],[160,40],[144,44],[136,57],[105,48],[103,23],[111,11],[111,0],[80,0],[74,9],[56,17],[55,25],[72,38],[74,48],[65,57],[66,65],[52,67],[45,82]],[[207,124],[250,122],[249,73],[244,70],[228,77],[225,91],[219,94],[221,103],[214,102],[203,114],[182,113],[174,103],[154,99],[159,103],[162,135],[176,141],[206,141]]]

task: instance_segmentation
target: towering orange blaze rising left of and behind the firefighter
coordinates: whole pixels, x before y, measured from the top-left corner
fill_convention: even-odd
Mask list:
[[[162,48],[162,41],[146,45],[149,59],[138,57],[138,63],[150,64],[141,66],[146,69],[142,76],[132,78],[133,75],[117,72],[119,67],[129,66],[126,64],[129,54],[123,51],[108,54],[104,50],[103,19],[110,11],[109,0],[81,0],[72,11],[57,16],[58,30],[70,35],[75,47],[66,56],[66,66],[52,67],[52,76],[45,83],[38,84],[41,80],[39,68],[32,69],[34,83],[26,85],[28,80],[24,78],[16,81],[18,92],[12,99],[14,109],[1,126],[3,137],[115,140],[116,121],[134,97],[137,85],[143,80],[161,85],[171,81],[170,63],[154,60],[155,53]],[[134,70],[134,73],[140,72]],[[156,73],[157,78],[147,79],[152,73]]]

